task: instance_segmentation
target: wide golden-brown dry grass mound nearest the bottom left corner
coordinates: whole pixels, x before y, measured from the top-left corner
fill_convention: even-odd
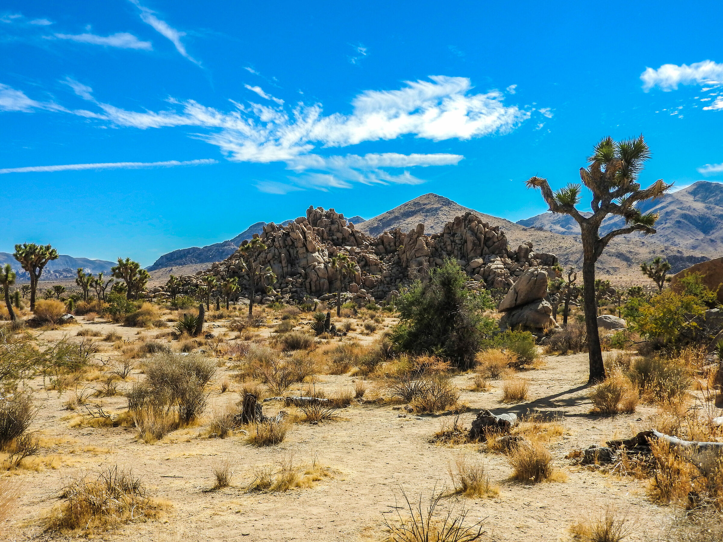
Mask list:
[[[97,475],[71,478],[59,492],[63,504],[46,518],[51,531],[82,530],[93,533],[122,523],[155,519],[161,506],[130,471],[116,466]]]

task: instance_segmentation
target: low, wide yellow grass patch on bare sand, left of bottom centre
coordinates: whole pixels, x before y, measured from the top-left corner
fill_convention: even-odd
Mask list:
[[[333,471],[314,457],[310,465],[294,465],[294,457],[284,458],[277,468],[271,465],[254,468],[253,480],[246,487],[249,493],[288,491],[295,488],[311,488],[315,482],[331,478]]]

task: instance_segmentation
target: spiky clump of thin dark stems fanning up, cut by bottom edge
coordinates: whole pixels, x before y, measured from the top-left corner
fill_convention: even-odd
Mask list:
[[[396,504],[388,514],[384,515],[384,526],[389,533],[387,542],[473,542],[487,539],[486,531],[482,530],[482,521],[471,525],[467,523],[468,510],[462,505],[448,504],[446,512],[437,510],[444,498],[444,492],[436,488],[429,496],[428,502],[410,499],[403,488],[400,488],[404,500],[401,506]]]

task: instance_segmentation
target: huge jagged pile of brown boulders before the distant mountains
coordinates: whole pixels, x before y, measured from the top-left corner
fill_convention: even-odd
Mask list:
[[[261,302],[327,301],[340,288],[349,299],[380,300],[395,295],[420,270],[439,267],[449,257],[469,275],[469,288],[506,292],[528,270],[555,272],[552,268],[557,265],[555,254],[536,254],[531,243],[508,249],[505,233],[471,212],[431,236],[424,233],[424,224],[419,224],[408,233],[397,228],[372,237],[357,231],[333,209],[309,207],[305,217],[286,226],[265,225],[259,237],[268,247],[260,264],[273,270],[275,283],[250,292],[249,275],[236,253],[208,270],[181,277],[184,293],[199,288],[205,275],[215,275],[219,280],[238,278],[239,295],[254,295]],[[330,259],[340,253],[354,263],[353,275],[341,278],[331,267]],[[148,296],[166,297],[168,293],[160,286]]]

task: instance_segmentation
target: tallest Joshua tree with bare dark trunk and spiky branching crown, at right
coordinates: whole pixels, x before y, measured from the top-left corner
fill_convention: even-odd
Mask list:
[[[585,218],[575,208],[581,199],[580,184],[570,183],[565,188],[552,192],[547,179],[531,177],[527,181],[528,188],[540,189],[542,197],[549,205],[549,210],[570,215],[580,225],[583,245],[583,306],[590,361],[589,384],[600,382],[605,378],[600,335],[597,330],[595,262],[607,244],[617,236],[634,231],[646,235],[655,233],[653,226],[658,215],[652,213],[643,215],[635,204],[660,197],[672,186],[659,179],[648,188],[641,190],[637,182],[638,176],[649,158],[650,150],[643,136],[620,142],[606,137],[595,145],[593,154],[588,158],[590,165],[587,168],[580,168],[581,181],[592,192],[590,206],[593,215],[589,218]],[[600,237],[600,225],[607,215],[625,218],[625,227]]]

